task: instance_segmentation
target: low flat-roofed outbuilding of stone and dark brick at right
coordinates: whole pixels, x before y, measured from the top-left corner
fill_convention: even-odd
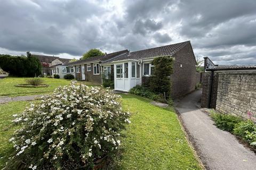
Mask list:
[[[215,65],[204,57],[201,107],[256,120],[256,65]]]

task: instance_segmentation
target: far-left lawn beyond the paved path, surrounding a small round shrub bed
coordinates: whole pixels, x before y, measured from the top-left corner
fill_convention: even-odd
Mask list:
[[[28,96],[28,95],[39,95],[52,92],[59,86],[65,86],[70,83],[70,80],[64,79],[50,79],[41,78],[44,80],[43,84],[49,85],[49,87],[42,88],[23,88],[15,87],[17,84],[25,84],[26,78],[14,78],[7,77],[0,79],[0,96]]]

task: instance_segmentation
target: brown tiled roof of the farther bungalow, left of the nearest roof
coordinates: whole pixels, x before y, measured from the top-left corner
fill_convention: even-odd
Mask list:
[[[68,63],[68,65],[75,65],[75,64],[81,64],[81,63],[87,63],[87,62],[93,62],[93,61],[103,62],[103,61],[110,60],[111,58],[115,58],[116,56],[119,56],[119,55],[122,55],[125,53],[128,53],[127,49],[119,51],[119,52],[109,53],[107,55],[101,55],[101,56],[97,56],[97,57],[86,58],[84,60],[78,60],[75,62]]]

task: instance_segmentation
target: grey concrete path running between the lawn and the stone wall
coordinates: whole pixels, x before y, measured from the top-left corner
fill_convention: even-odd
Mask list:
[[[256,169],[254,152],[240,144],[233,134],[216,128],[204,109],[196,106],[201,94],[197,90],[176,101],[175,106],[206,169]]]

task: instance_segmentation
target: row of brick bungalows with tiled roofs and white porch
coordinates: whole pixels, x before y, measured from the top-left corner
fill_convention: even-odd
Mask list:
[[[86,80],[95,83],[102,83],[102,73],[114,75],[115,90],[129,91],[136,85],[146,84],[154,65],[151,62],[155,57],[170,56],[174,58],[173,74],[170,75],[172,82],[173,98],[183,96],[195,89],[196,85],[196,60],[190,41],[166,45],[162,47],[129,52],[110,53],[103,56],[87,58],[57,65],[51,69],[58,72],[57,68],[66,66],[69,73],[75,74],[76,80]],[[59,68],[59,72],[60,72]],[[63,70],[63,69],[62,69]]]

